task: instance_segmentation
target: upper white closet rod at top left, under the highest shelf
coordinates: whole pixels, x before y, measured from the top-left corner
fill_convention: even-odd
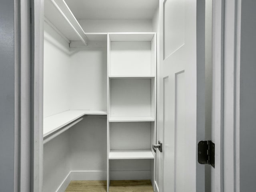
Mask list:
[[[60,8],[60,6],[54,1],[54,0],[50,0],[52,2],[52,4],[54,4],[54,6],[58,9],[58,11],[60,12],[60,14],[62,14],[62,16],[66,19],[66,21],[68,22],[68,24],[70,24],[70,26],[74,29],[74,31],[76,32],[76,34],[79,36],[79,38],[81,39],[81,41],[87,46],[87,41],[88,38],[84,32],[84,30],[82,29],[82,27],[80,26],[80,24],[78,23],[78,21],[76,20],[74,14],[71,12],[70,8],[68,7],[68,5],[66,4],[66,2],[64,0],[61,0],[61,2],[64,4],[64,8],[66,8],[69,12],[69,14],[71,14],[72,18],[74,19],[74,21],[76,22],[76,24],[78,25],[78,27],[80,28],[80,30],[82,31],[80,34],[78,32],[78,30],[74,27],[74,25],[70,22],[70,20],[68,19],[68,17],[66,16],[66,14],[64,14],[64,12],[62,11],[62,9]]]

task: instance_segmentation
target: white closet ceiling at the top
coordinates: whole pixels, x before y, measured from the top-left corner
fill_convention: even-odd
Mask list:
[[[152,19],[159,0],[65,0],[77,19]]]

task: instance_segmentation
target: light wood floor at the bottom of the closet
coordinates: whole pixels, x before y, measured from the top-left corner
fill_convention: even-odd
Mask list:
[[[71,181],[65,192],[106,192],[106,181]],[[150,180],[115,180],[109,192],[154,192]]]

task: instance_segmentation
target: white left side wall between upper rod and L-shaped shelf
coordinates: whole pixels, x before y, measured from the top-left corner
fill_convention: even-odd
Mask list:
[[[44,22],[44,117],[70,109],[70,50]]]

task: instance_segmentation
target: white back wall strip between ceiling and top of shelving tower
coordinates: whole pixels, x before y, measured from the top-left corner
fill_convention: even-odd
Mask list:
[[[78,20],[85,32],[152,32],[151,20]]]

